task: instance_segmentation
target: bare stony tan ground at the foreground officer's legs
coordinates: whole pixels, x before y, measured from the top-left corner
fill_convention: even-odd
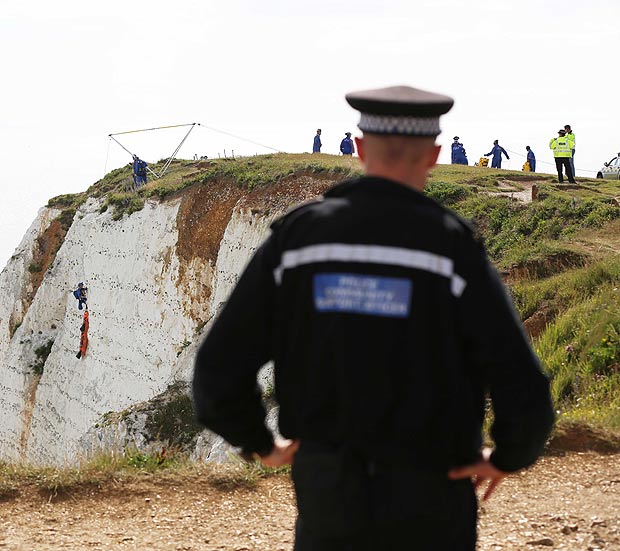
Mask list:
[[[292,549],[287,476],[261,479],[253,489],[217,482],[160,473],[53,500],[25,486],[0,502],[0,549]],[[479,549],[620,551],[620,454],[545,457],[507,479],[480,507]]]

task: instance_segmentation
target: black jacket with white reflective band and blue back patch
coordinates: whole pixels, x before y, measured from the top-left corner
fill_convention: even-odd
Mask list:
[[[553,423],[548,380],[496,271],[454,213],[374,177],[277,220],[202,344],[199,420],[246,452],[272,435],[256,384],[275,362],[280,432],[422,469],[513,471]]]

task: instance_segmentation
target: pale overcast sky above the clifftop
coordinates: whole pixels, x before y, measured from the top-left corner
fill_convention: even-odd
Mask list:
[[[620,151],[618,0],[0,0],[0,268],[37,210],[129,162],[108,134],[200,122],[287,152],[337,153],[346,92],[408,84],[456,99],[470,164],[494,139],[541,171],[558,128],[577,177]],[[119,136],[147,161],[186,129]],[[196,128],[180,155],[270,150]]]

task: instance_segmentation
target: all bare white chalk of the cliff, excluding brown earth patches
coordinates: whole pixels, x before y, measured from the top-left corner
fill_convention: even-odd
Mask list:
[[[92,450],[85,442],[93,435],[110,440],[93,431],[104,414],[191,379],[206,322],[282,209],[261,215],[235,207],[212,265],[200,255],[188,261],[177,254],[182,201],[147,202],[114,221],[90,199],[11,335],[8,320],[22,317],[19,305],[27,294],[28,251],[59,211],[39,213],[0,275],[0,459],[75,463]],[[80,281],[88,287],[90,314],[82,359],[76,353],[83,311],[72,295]],[[51,346],[46,358],[45,345]],[[221,440],[216,443],[221,447]]]

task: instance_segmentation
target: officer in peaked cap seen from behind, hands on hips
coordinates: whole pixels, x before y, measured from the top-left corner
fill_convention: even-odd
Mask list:
[[[473,551],[474,486],[488,497],[541,453],[548,381],[472,230],[422,194],[453,100],[346,99],[366,175],[272,225],[199,350],[197,415],[245,457],[293,464],[296,551]],[[281,443],[256,384],[271,359]]]

